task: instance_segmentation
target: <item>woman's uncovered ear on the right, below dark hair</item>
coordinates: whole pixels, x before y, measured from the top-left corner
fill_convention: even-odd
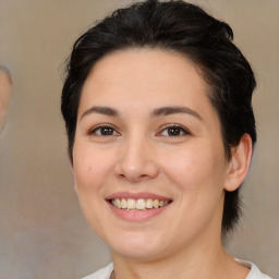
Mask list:
[[[252,158],[253,144],[251,136],[244,134],[236,147],[231,149],[231,160],[228,167],[227,179],[225,181],[225,190],[232,192],[236,190],[244,181]]]

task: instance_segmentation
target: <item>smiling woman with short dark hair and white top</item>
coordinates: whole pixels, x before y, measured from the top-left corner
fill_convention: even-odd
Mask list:
[[[113,263],[86,278],[269,278],[222,247],[256,141],[255,80],[232,37],[196,5],[148,0],[75,43],[69,155]]]

